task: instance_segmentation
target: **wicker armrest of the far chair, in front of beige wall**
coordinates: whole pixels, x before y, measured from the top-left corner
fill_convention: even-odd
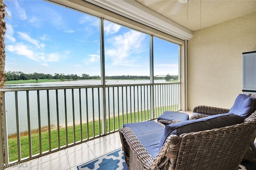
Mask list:
[[[210,107],[210,106],[196,106],[193,109],[194,113],[203,113],[207,115],[218,115],[223,113],[228,113],[230,109],[223,109],[219,107]]]

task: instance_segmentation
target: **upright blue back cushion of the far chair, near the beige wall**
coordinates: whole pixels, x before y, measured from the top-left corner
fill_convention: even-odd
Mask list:
[[[256,110],[256,98],[239,94],[228,113],[234,113],[244,118],[248,117]]]

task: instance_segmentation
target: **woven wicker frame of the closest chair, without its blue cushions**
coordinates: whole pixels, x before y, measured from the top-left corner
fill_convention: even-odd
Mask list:
[[[171,135],[156,158],[129,127],[120,129],[120,137],[130,170],[238,170],[255,129],[256,118],[250,118],[229,127]]]

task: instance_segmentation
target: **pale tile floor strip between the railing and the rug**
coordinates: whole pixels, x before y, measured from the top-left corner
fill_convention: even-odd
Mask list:
[[[91,141],[84,142],[73,147],[34,158],[22,162],[15,167],[10,166],[6,170],[77,170],[76,166],[92,160],[107,152],[120,148],[121,141],[119,133],[112,133]]]

